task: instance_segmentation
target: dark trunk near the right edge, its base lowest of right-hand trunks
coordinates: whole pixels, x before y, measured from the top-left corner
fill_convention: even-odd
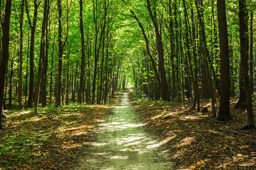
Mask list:
[[[243,72],[243,83],[246,95],[247,125],[244,128],[256,129],[253,118],[252,95],[250,90],[250,78],[248,68],[249,38],[245,34],[248,32],[248,11],[246,0],[239,0],[239,35],[240,35],[240,55]]]

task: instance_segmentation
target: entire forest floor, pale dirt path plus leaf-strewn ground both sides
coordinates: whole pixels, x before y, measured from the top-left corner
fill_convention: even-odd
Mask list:
[[[10,110],[0,130],[0,170],[255,170],[256,131],[239,130],[247,113],[233,109],[236,101],[229,122],[209,118],[208,100],[201,107],[209,111],[197,113],[190,101],[142,102],[134,92],[106,106],[40,107],[36,117],[33,109]]]

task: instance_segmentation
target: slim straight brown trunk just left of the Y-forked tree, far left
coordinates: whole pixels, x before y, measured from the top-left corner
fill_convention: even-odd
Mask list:
[[[23,109],[22,106],[22,64],[23,64],[23,18],[24,18],[24,0],[21,1],[20,6],[20,54],[19,54],[19,61],[20,61],[20,69],[19,69],[19,85],[18,85],[18,104],[19,109]]]

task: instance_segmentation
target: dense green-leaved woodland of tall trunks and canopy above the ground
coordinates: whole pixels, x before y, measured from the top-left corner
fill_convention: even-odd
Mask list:
[[[211,98],[220,121],[239,97],[245,128],[255,127],[254,0],[1,0],[0,9],[3,110],[106,104],[129,84],[142,100],[193,100],[198,112]]]

